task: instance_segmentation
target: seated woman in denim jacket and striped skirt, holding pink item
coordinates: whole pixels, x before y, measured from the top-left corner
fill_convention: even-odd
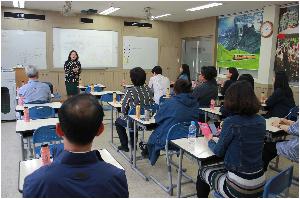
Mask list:
[[[200,168],[197,196],[207,198],[210,187],[223,197],[261,197],[265,174],[262,151],[266,121],[258,115],[260,103],[245,81],[233,83],[226,91],[224,106],[235,115],[223,122],[218,142],[207,136],[208,146],[224,163]]]

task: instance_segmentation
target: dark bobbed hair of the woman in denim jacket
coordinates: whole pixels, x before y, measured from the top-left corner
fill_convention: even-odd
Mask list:
[[[260,103],[249,82],[237,81],[226,90],[224,107],[234,114],[250,116],[258,113]]]

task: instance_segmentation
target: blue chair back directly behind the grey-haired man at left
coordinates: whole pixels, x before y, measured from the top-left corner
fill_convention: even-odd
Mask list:
[[[46,119],[55,116],[55,111],[50,106],[33,106],[29,108],[30,119]]]

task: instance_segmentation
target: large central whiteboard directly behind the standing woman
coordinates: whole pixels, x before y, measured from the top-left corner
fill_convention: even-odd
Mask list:
[[[83,69],[118,66],[118,32],[53,28],[53,65],[63,68],[71,50]]]

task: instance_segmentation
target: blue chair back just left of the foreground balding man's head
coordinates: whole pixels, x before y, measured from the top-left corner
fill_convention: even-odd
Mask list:
[[[33,133],[33,147],[35,157],[41,156],[41,145],[48,144],[50,148],[50,154],[53,157],[55,154],[55,149],[63,147],[63,139],[58,137],[56,134],[55,125],[43,126],[36,129]]]

